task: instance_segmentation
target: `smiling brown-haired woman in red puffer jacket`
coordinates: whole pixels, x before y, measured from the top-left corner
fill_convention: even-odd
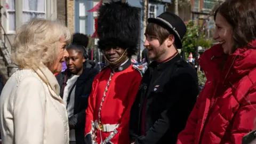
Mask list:
[[[256,0],[226,0],[214,39],[198,62],[207,77],[180,144],[242,143],[256,117]]]

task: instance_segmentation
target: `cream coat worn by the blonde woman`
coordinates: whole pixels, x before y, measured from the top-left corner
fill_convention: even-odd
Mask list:
[[[69,143],[67,111],[58,95],[57,80],[45,66],[16,71],[0,97],[2,142]]]

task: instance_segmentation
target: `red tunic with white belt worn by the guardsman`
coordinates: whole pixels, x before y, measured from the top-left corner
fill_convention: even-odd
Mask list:
[[[86,135],[89,134],[92,143],[101,143],[101,141],[103,142],[114,134],[113,138],[110,137],[110,142],[130,144],[130,110],[138,92],[142,74],[138,68],[132,65],[114,73],[111,77],[110,74],[111,70],[108,67],[94,78],[88,108],[86,109],[85,139],[87,138]],[[104,94],[106,97],[103,98]],[[99,109],[101,109],[100,113]],[[117,132],[100,131],[97,129],[98,126],[93,125],[95,121],[100,121],[104,125],[119,124],[116,128]],[[93,139],[95,136],[96,138]]]

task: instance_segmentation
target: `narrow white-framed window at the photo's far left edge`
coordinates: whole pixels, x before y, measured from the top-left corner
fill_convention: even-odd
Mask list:
[[[7,16],[7,33],[14,33],[15,31],[15,0],[6,0],[5,4]]]

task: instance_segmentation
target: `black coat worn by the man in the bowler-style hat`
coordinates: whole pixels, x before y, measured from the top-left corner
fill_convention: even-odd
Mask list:
[[[130,137],[135,144],[176,143],[198,94],[195,69],[179,55],[158,64],[153,61],[143,75],[131,109]],[[141,114],[146,99],[146,134],[141,135]]]

